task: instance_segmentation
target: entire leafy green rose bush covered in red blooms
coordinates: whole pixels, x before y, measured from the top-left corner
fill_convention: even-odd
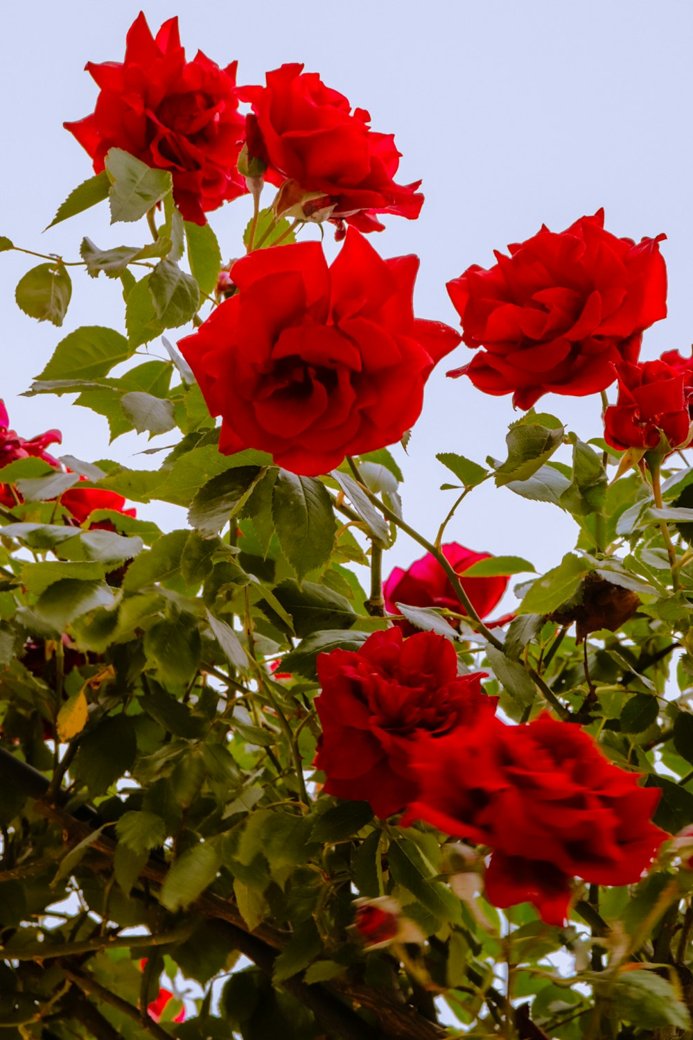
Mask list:
[[[419,531],[408,427],[459,336],[357,230],[418,213],[392,138],[299,66],[237,92],[175,20],[94,73],[73,131],[106,172],[53,224],[108,199],[138,244],[0,253],[38,257],[16,300],[56,327],[80,264],[113,279],[121,331],[75,321],[28,394],[149,433],[154,466],[58,461],[0,410],[0,1032],[690,1036],[693,366],[637,361],[659,240],[599,213],[451,283],[482,389],[621,386],[588,440],[530,409],[503,461],[455,421],[483,462],[436,456],[454,500]],[[245,188],[242,244],[189,223]],[[328,267],[296,237],[329,219],[356,228]],[[442,545],[484,484],[537,537],[571,516],[574,550]],[[392,570],[401,534],[425,555]]]

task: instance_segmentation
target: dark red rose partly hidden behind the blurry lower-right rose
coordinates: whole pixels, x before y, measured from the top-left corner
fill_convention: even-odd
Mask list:
[[[374,632],[357,650],[318,655],[322,725],[316,769],[327,795],[369,802],[377,816],[398,812],[418,792],[409,761],[421,734],[439,738],[480,717],[497,698],[481,688],[484,673],[457,674],[457,655],[444,635],[399,628]]]

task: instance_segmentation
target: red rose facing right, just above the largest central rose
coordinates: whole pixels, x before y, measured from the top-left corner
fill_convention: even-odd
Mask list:
[[[272,184],[294,180],[304,194],[327,196],[334,219],[359,231],[381,231],[375,213],[419,216],[421,184],[396,184],[400,153],[392,134],[374,133],[371,116],[325,86],[302,64],[268,72],[266,86],[241,92],[256,121],[248,128],[248,150],[268,163]]]

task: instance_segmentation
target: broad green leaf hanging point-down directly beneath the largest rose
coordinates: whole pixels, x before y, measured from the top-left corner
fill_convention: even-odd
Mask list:
[[[332,551],[337,523],[320,480],[279,470],[272,493],[272,519],[282,552],[300,580]]]

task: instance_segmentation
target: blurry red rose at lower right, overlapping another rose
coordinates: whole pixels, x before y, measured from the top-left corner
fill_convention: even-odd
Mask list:
[[[564,922],[571,878],[636,882],[667,837],[650,823],[661,791],[547,713],[524,726],[483,717],[472,730],[419,739],[410,763],[420,794],[402,822],[490,846],[488,901],[529,901],[550,925]]]

